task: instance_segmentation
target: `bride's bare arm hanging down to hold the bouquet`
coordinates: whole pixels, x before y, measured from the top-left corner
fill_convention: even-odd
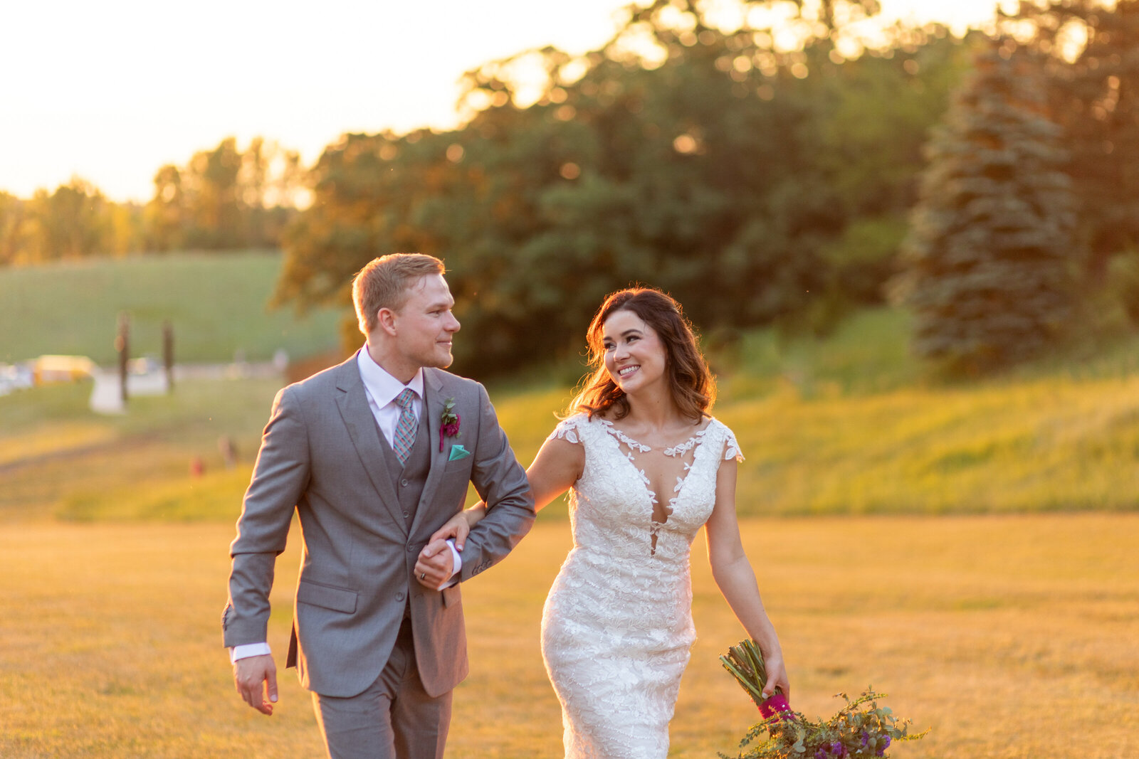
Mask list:
[[[708,561],[712,577],[736,617],[744,625],[747,635],[755,641],[763,653],[768,670],[768,684],[763,695],[771,695],[776,688],[790,698],[790,684],[784,663],[782,647],[776,628],[768,619],[760,597],[744,544],[739,538],[739,522],[736,519],[736,470],[735,459],[720,462],[715,484],[715,508],[705,525],[708,542]]]

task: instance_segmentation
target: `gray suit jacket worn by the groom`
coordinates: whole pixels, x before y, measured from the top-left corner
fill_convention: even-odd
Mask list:
[[[490,510],[462,551],[462,580],[509,553],[533,525],[534,504],[482,385],[424,369],[424,395],[432,461],[409,529],[355,357],[277,394],[230,546],[224,645],[268,640],[273,564],[295,509],[303,544],[287,666],[297,667],[304,687],[331,696],[363,692],[387,662],[407,603],[427,693],[466,677],[459,586],[424,588],[412,576],[416,559],[464,508],[468,482]],[[461,423],[440,451],[448,398]],[[450,460],[453,445],[472,455]]]

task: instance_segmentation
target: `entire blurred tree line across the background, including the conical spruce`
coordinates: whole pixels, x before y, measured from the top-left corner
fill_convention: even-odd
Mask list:
[[[1074,316],[1139,322],[1139,0],[1025,1],[964,38],[867,38],[874,0],[769,13],[787,8],[740,0],[724,23],[695,0],[632,7],[599,50],[469,72],[460,129],[344,134],[306,170],[229,140],[99,229],[120,230],[101,232],[113,251],[280,245],[273,300],[301,310],[346,305],[375,255],[440,256],[477,338],[457,344],[469,372],[579,352],[631,282],[726,340],[825,331],[894,298],[917,350],[965,369],[1033,355]],[[535,69],[532,93],[519,72]],[[269,163],[286,167],[272,181]],[[90,217],[116,208],[59,193],[105,209]],[[0,262],[19,261],[5,208],[55,195],[0,196]]]

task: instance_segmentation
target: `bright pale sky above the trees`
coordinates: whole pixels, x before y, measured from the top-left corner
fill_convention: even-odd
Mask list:
[[[719,1],[719,0],[716,0]],[[628,0],[2,0],[0,190],[79,175],[147,200],[163,164],[263,135],[311,164],[344,132],[452,127],[458,79],[600,47]],[[960,31],[994,0],[882,0]]]

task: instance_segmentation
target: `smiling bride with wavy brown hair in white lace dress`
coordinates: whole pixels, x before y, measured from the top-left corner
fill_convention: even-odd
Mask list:
[[[591,376],[526,475],[541,509],[567,489],[573,548],[542,612],[542,657],[568,758],[669,752],[680,677],[696,638],[689,548],[703,526],[712,574],[769,675],[789,694],[779,638],[736,521],[736,437],[708,414],[715,385],[679,304],[611,295],[588,332]],[[478,503],[432,541],[485,514]]]

